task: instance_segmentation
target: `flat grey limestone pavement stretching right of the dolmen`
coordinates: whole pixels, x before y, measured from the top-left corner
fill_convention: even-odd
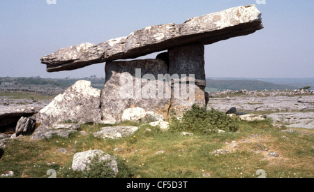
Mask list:
[[[313,95],[291,94],[291,92],[287,91],[255,91],[255,94],[243,94],[232,97],[221,93],[217,95],[225,97],[209,98],[208,109],[214,108],[227,112],[230,108],[237,108],[237,112],[254,112],[259,114],[264,112],[276,124],[285,124],[287,127],[296,128],[314,128]]]

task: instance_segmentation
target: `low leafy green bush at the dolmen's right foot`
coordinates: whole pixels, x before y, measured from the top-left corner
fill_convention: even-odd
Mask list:
[[[171,131],[191,131],[204,134],[217,133],[218,130],[237,131],[236,120],[228,117],[218,110],[207,111],[206,107],[193,105],[192,109],[186,110],[181,118],[177,119],[172,111]]]

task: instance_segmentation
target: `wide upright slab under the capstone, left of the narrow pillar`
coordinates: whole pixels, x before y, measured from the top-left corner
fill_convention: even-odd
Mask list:
[[[124,110],[128,108],[142,108],[167,116],[171,89],[164,82],[163,77],[167,74],[164,61],[107,62],[105,73],[106,82],[101,91],[103,121],[121,121]]]

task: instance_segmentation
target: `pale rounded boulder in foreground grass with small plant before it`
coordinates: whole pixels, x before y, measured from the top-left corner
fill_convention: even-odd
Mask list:
[[[114,171],[115,175],[118,174],[118,163],[116,158],[105,154],[105,152],[100,150],[90,150],[87,152],[76,153],[73,156],[72,169],[78,171],[89,170],[89,165],[91,164],[91,159],[98,156],[99,161],[110,161],[110,168]],[[115,176],[114,175],[114,176]]]

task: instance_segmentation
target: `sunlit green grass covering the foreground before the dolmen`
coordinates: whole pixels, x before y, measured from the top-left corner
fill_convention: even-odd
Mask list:
[[[283,133],[271,126],[271,121],[237,122],[239,131],[204,135],[194,133],[184,136],[176,131],[160,131],[157,127],[126,122],[122,125],[139,126],[128,138],[101,140],[92,133],[102,124],[84,124],[80,133],[69,138],[53,137],[32,141],[29,136],[12,140],[0,159],[0,174],[12,170],[14,177],[47,178],[47,170],[57,170],[57,177],[80,177],[70,170],[73,155],[90,149],[100,149],[119,159],[118,177],[141,178],[201,178],[209,173],[213,178],[253,177],[259,169],[267,177],[314,177],[314,138],[309,134]],[[150,131],[149,131],[149,130]],[[260,135],[260,138],[250,138]],[[286,136],[289,139],[283,138]],[[248,140],[249,141],[246,141]],[[230,147],[232,141],[237,147]],[[267,152],[256,153],[258,146]],[[65,148],[68,154],[58,149]],[[114,151],[120,148],[122,151]],[[228,149],[227,154],[213,154],[217,149]],[[156,154],[163,151],[163,153]],[[279,158],[271,158],[268,152],[277,152]]]

